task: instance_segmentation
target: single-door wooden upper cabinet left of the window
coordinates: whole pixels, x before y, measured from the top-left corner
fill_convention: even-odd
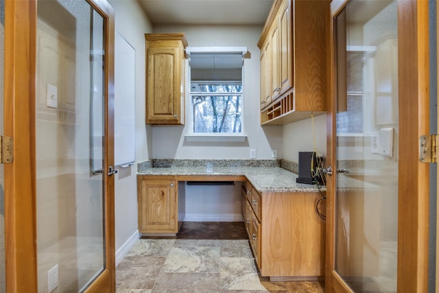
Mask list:
[[[145,34],[146,123],[185,124],[185,34]]]

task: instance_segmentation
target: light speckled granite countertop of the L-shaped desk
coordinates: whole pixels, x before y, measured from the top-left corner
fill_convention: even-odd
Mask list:
[[[246,176],[259,192],[318,192],[314,185],[296,183],[297,174],[281,167],[147,167],[138,175]]]

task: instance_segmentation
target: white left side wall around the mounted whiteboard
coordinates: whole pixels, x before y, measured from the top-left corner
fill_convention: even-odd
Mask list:
[[[137,1],[110,0],[115,9],[117,32],[136,51],[136,162],[150,159],[150,127],[145,124],[145,33],[152,32],[149,19]],[[120,168],[115,178],[115,234],[117,256],[128,249],[137,232],[137,165]],[[128,246],[128,247],[126,247]]]

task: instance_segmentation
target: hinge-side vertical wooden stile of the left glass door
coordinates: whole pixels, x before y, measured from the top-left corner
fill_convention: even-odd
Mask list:
[[[5,1],[4,135],[14,139],[14,161],[4,166],[7,292],[38,290],[35,24],[36,2]]]

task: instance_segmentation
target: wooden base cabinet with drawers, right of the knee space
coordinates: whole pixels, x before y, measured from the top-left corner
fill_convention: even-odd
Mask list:
[[[243,187],[243,217],[261,276],[272,281],[324,276],[324,220],[315,209],[320,194],[263,192]],[[246,208],[244,208],[244,205]]]

